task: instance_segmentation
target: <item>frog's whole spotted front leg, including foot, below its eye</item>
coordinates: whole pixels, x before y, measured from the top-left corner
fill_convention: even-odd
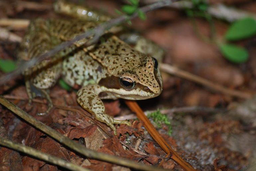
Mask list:
[[[92,116],[100,121],[106,123],[114,131],[116,135],[116,128],[114,124],[126,124],[131,126],[131,123],[128,121],[115,120],[105,112],[105,106],[101,99],[99,98],[99,93],[103,92],[101,87],[97,84],[95,85],[86,85],[80,88],[77,92],[77,102]]]

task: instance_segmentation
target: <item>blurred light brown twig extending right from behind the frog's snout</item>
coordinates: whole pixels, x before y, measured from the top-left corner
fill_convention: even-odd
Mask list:
[[[231,90],[228,89],[222,85],[219,84],[215,84],[209,80],[206,80],[204,78],[201,78],[199,76],[196,76],[194,74],[191,74],[189,72],[183,71],[177,67],[171,66],[169,64],[161,64],[160,65],[160,69],[161,71],[167,72],[169,74],[173,74],[175,76],[193,81],[195,83],[204,85],[206,87],[209,87],[211,89],[214,89],[216,91],[219,91],[223,94],[227,94],[227,95],[231,95],[231,96],[235,96],[235,97],[239,97],[239,98],[250,98],[252,97],[252,94],[246,93],[246,92],[242,92],[242,91],[238,91],[238,90]]]

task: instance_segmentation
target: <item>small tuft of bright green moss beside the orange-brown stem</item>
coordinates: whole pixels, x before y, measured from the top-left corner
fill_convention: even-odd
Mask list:
[[[170,119],[162,114],[159,109],[157,109],[155,112],[152,112],[148,115],[148,118],[152,118],[153,122],[156,124],[157,128],[162,128],[162,125],[165,124],[168,127],[168,135],[172,135],[172,126]]]

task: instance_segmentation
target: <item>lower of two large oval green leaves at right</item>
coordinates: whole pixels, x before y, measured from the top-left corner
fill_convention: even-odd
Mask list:
[[[220,45],[220,51],[227,60],[234,63],[246,62],[249,57],[244,48],[232,44]]]

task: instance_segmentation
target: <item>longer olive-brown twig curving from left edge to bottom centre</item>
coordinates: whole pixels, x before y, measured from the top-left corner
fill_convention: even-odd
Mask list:
[[[143,164],[136,163],[132,160],[128,160],[125,158],[120,158],[117,156],[112,156],[109,154],[97,152],[88,148],[85,148],[83,145],[75,143],[74,141],[70,140],[69,138],[63,136],[59,132],[55,131],[54,129],[50,128],[49,126],[46,126],[42,122],[36,120],[32,116],[30,116],[28,113],[24,112],[22,109],[14,105],[12,102],[5,99],[3,96],[0,95],[0,103],[7,107],[9,110],[14,112],[16,115],[24,119],[26,122],[30,123],[33,127],[39,129],[41,132],[45,133],[49,137],[53,138],[54,140],[58,141],[59,143],[65,145],[66,147],[72,149],[73,151],[76,151],[79,154],[82,154],[88,158],[94,158],[110,163],[114,163],[117,165],[122,165],[126,167],[131,167],[137,170],[165,170],[162,168],[157,168],[154,166],[147,166]]]

